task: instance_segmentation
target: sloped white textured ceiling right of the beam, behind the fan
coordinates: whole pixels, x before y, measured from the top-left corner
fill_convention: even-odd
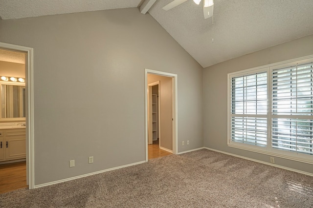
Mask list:
[[[313,34],[313,0],[214,0],[213,27],[201,4],[169,2],[149,13],[203,67]]]

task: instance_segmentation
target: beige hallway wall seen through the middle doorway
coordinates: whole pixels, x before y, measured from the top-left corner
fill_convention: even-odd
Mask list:
[[[172,78],[147,75],[147,83],[160,81],[160,146],[173,150]]]

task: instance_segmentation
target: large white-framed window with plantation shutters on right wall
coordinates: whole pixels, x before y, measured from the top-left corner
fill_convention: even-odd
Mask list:
[[[228,74],[228,146],[313,163],[312,62]]]

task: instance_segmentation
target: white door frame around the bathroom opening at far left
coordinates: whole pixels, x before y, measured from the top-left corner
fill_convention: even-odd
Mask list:
[[[34,52],[33,48],[0,42],[0,48],[27,53],[25,59],[25,109],[26,109],[26,182],[29,189],[35,186],[34,174]]]

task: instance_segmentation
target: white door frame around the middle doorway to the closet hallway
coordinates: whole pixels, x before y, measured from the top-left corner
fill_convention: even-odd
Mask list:
[[[146,162],[148,162],[148,74],[155,74],[172,78],[172,118],[173,118],[173,154],[178,154],[178,93],[177,83],[178,75],[163,71],[156,71],[151,69],[145,69],[145,149],[146,149]]]

